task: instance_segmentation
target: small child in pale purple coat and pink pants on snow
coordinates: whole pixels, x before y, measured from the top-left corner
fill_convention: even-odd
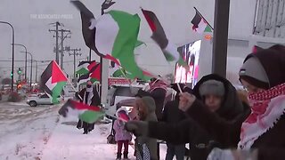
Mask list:
[[[124,159],[127,159],[128,144],[130,140],[132,140],[132,134],[131,132],[127,132],[125,130],[125,122],[123,122],[129,120],[126,108],[118,108],[116,116],[118,117],[118,119],[114,123],[114,130],[116,132],[115,140],[117,141],[117,147],[118,147],[117,159],[118,160],[121,159],[123,144],[124,144]]]

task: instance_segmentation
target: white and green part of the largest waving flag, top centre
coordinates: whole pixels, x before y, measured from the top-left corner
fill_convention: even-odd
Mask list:
[[[105,58],[113,60],[128,72],[131,79],[151,77],[143,75],[134,60],[134,48],[138,44],[140,18],[137,14],[110,11],[96,23],[95,47]]]

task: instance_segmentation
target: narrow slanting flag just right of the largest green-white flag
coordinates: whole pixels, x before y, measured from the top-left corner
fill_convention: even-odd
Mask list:
[[[183,57],[180,55],[180,53],[177,52],[177,47],[175,47],[174,44],[169,43],[167,39],[167,35],[164,29],[162,28],[157,16],[153,12],[143,10],[143,9],[142,9],[142,13],[151,28],[151,31],[152,31],[151,38],[157,44],[159,44],[159,47],[161,51],[164,53],[167,61],[177,61],[179,65],[187,68],[188,65],[183,60]]]

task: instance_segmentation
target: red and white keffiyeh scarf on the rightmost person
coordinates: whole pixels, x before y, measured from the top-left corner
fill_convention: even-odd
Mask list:
[[[238,148],[249,149],[262,134],[273,128],[285,113],[285,84],[248,96],[251,114],[241,125]]]

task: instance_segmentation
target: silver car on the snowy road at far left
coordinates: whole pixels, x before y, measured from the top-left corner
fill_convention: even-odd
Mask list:
[[[61,96],[58,97],[58,100],[61,101]],[[27,104],[30,107],[37,107],[37,105],[53,105],[53,102],[46,93],[40,93],[37,96],[35,94],[28,96]]]

